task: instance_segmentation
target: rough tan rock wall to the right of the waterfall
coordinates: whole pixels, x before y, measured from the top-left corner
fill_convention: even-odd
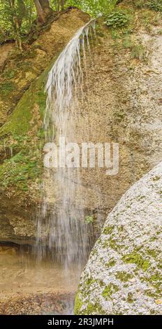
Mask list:
[[[157,13],[153,10],[132,10],[134,21],[128,35],[120,31],[112,38],[111,31],[99,22],[93,53],[90,59],[87,54],[84,68],[88,92],[84,86],[75,128],[78,144],[119,144],[115,176],[107,176],[105,168],[97,166],[82,168],[84,209],[94,217],[99,214],[102,223],[126,190],[156,166],[162,155],[161,19],[154,25]]]

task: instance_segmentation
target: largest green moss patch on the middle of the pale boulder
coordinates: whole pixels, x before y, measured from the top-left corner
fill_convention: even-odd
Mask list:
[[[133,263],[141,268],[144,272],[149,268],[149,260],[145,260],[139,253],[129,253],[122,258],[124,262]]]

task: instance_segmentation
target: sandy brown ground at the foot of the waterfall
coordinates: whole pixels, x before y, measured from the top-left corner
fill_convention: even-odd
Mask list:
[[[80,273],[0,246],[0,314],[71,314]]]

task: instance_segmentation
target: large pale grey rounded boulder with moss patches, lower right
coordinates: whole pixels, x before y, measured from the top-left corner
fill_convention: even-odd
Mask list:
[[[162,162],[109,214],[80,279],[75,314],[161,314]]]

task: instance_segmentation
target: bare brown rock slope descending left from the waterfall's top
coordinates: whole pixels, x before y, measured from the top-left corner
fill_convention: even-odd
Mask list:
[[[15,109],[32,81],[57,57],[75,31],[88,21],[86,13],[69,10],[58,15],[52,24],[44,26],[36,41],[22,54],[14,45],[0,45],[0,126],[6,122],[8,114]]]

